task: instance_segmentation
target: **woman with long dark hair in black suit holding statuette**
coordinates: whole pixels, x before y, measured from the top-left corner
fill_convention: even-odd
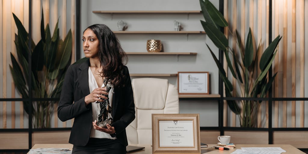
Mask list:
[[[135,119],[135,106],[127,56],[115,34],[103,24],[83,32],[86,62],[68,67],[58,106],[61,121],[75,118],[69,143],[72,153],[125,153],[128,145],[125,128]],[[103,79],[111,79],[113,89],[106,92]],[[90,93],[91,92],[91,93]],[[96,125],[97,104],[108,99],[113,123]],[[74,103],[73,103],[74,102]]]

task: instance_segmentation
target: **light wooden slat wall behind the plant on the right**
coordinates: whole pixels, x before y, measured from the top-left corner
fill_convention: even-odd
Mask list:
[[[237,14],[229,16],[229,23],[232,25],[231,30],[233,32],[233,27],[237,27],[237,24],[241,24],[241,27],[244,27],[243,29],[238,29],[242,39],[244,36],[246,37],[247,32],[245,32],[245,30],[248,29],[248,27],[245,28],[245,20],[249,20],[249,27],[253,34],[257,34],[257,36],[253,35],[255,39],[253,40],[255,43],[254,46],[258,45],[261,40],[259,59],[263,51],[269,45],[269,1],[270,0],[237,0],[237,2],[231,1],[232,4],[229,3],[224,6],[228,7],[228,9],[232,9],[232,13]],[[249,6],[247,9],[248,15],[245,15],[245,3]],[[241,9],[239,9],[237,4],[241,4]],[[278,72],[273,84],[273,97],[305,97],[304,32],[306,25],[304,25],[304,23],[307,19],[304,15],[304,0],[274,0],[272,4],[272,39],[274,40],[278,34],[283,36],[277,48],[278,53],[273,63],[273,74]],[[228,12],[228,10],[225,8],[224,12]],[[239,13],[240,15],[238,15]],[[225,14],[225,17],[228,17],[228,15],[226,16]],[[241,20],[237,20],[237,17],[240,17]],[[288,34],[291,34],[291,36],[288,37]],[[234,48],[234,44],[232,44],[232,47]],[[300,68],[297,70],[296,66]],[[236,85],[234,81],[233,85]],[[296,106],[297,103],[295,101],[290,101],[290,103],[288,101],[282,101],[281,103],[276,101],[273,103],[273,127],[307,127],[307,124],[304,124],[304,101],[298,103],[300,107]],[[288,104],[290,108],[288,108]],[[268,127],[268,102],[262,102],[260,109],[257,126]],[[289,110],[290,113],[288,112]],[[232,117],[230,118],[230,122],[224,121],[224,124],[229,124],[232,127],[238,126],[238,124],[235,124],[236,120],[234,120],[233,113],[227,113],[227,110],[224,110],[224,115]],[[227,119],[227,117],[225,117],[225,119]],[[266,120],[266,122],[263,120]]]

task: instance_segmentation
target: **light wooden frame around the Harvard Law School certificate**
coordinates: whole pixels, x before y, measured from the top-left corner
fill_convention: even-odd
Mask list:
[[[199,114],[152,114],[152,153],[173,153],[173,154],[200,154],[200,123]],[[160,121],[192,121],[192,133],[193,133],[193,146],[164,146],[160,144],[160,138],[166,136],[160,136]],[[175,124],[176,125],[176,124]],[[188,125],[188,127],[190,127]],[[189,137],[188,137],[189,138]],[[191,137],[190,137],[191,138]],[[169,138],[170,139],[170,138]],[[185,138],[181,138],[185,140]]]

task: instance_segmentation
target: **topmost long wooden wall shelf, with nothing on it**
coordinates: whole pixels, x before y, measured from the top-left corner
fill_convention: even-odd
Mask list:
[[[93,13],[201,13],[201,11],[92,11]]]

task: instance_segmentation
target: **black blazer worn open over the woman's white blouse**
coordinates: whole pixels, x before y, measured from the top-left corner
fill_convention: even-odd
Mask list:
[[[84,98],[90,94],[88,69],[90,61],[68,67],[62,86],[58,117],[61,121],[75,118],[69,143],[85,146],[90,138],[92,127],[92,106],[85,105]],[[114,88],[112,118],[117,139],[128,145],[125,128],[135,119],[135,105],[128,68],[124,66],[125,86]],[[92,91],[91,91],[92,92]],[[75,103],[73,103],[75,102]],[[114,137],[114,135],[111,135]]]

